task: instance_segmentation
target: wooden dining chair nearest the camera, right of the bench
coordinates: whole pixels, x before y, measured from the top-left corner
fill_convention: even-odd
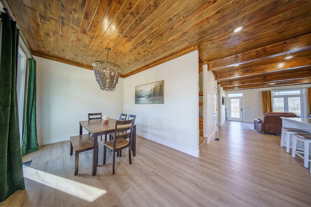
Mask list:
[[[104,142],[104,160],[103,164],[106,163],[106,151],[107,148],[112,150],[112,175],[115,174],[115,157],[116,152],[124,148],[128,148],[128,158],[129,163],[132,164],[132,157],[131,157],[131,137],[132,131],[134,126],[135,119],[126,120],[126,121],[116,121],[115,132],[113,133],[113,140],[108,142]],[[128,138],[128,140],[127,140]]]

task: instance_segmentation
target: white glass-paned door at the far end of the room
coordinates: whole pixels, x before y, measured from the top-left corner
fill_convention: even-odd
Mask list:
[[[229,97],[228,98],[228,120],[230,121],[243,121],[243,104],[242,97]]]

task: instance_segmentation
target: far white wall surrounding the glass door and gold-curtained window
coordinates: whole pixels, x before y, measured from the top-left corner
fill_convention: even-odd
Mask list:
[[[263,118],[261,91],[292,89],[292,88],[309,88],[309,87],[311,87],[311,84],[279,86],[279,87],[276,86],[276,87],[269,87],[269,88],[226,91],[225,94],[228,94],[228,93],[242,93],[243,94],[243,122],[253,123],[255,118],[260,118],[260,119]],[[302,101],[306,101],[306,99],[303,98]],[[305,109],[304,116],[307,116],[306,109]]]

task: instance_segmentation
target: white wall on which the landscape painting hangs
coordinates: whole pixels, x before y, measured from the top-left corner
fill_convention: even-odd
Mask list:
[[[137,115],[137,134],[199,156],[198,51],[124,79],[124,112]],[[135,104],[135,86],[164,80],[164,104]]]

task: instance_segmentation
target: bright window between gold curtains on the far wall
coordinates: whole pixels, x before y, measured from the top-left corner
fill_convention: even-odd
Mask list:
[[[272,91],[274,112],[293,112],[301,116],[301,89]]]

